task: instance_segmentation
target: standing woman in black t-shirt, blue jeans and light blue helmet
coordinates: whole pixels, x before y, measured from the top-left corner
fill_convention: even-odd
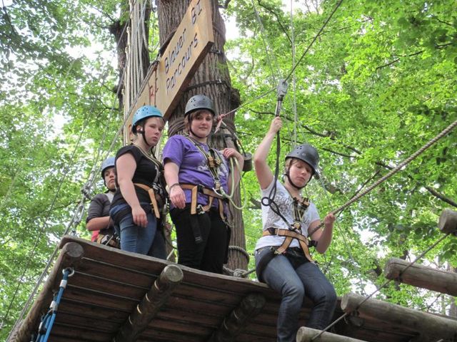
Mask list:
[[[164,130],[161,112],[151,105],[136,110],[131,145],[116,154],[117,190],[110,215],[121,237],[121,249],[166,259],[162,222],[166,192],[163,167],[152,152]]]

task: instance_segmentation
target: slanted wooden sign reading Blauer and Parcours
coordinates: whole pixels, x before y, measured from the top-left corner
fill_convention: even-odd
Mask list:
[[[129,128],[135,111],[143,105],[155,105],[168,119],[179,102],[179,95],[191,81],[213,43],[210,0],[193,0],[162,54],[159,66],[149,68],[129,110],[126,128]]]

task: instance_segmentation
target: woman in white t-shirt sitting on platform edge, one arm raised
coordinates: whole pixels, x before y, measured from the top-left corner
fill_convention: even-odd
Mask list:
[[[277,334],[278,342],[296,341],[298,316],[307,296],[313,301],[306,322],[310,328],[328,326],[336,306],[332,284],[311,259],[308,237],[319,253],[331,243],[335,216],[328,214],[321,224],[316,206],[303,198],[301,190],[314,176],[318,178],[318,152],[311,145],[298,145],[286,155],[284,182],[274,180],[266,161],[281,118],[274,118],[253,157],[262,195],[263,234],[256,244],[256,272],[261,281],[281,293]]]

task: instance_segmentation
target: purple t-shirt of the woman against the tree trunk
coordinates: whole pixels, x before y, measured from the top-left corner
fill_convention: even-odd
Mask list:
[[[209,147],[206,144],[199,144],[206,152],[209,152]],[[221,181],[221,187],[226,193],[229,193],[227,186],[227,180],[229,179],[229,165],[227,160],[217,151],[221,157],[222,163],[219,166],[219,180]],[[182,135],[173,135],[166,142],[164,151],[162,152],[164,157],[164,164],[166,162],[174,162],[179,166],[179,182],[181,184],[194,184],[203,185],[209,189],[214,188],[214,178],[206,161],[206,157],[201,151],[191,142],[188,138]],[[184,190],[186,195],[186,202],[191,202],[191,190]],[[199,204],[208,204],[208,196],[203,195],[199,192],[197,201]],[[218,207],[218,201],[213,201],[213,206]],[[171,205],[171,207],[173,207]]]

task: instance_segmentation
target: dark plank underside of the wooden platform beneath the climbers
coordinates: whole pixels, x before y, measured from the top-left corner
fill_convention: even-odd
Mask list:
[[[71,243],[84,249],[82,259],[69,261],[59,257],[53,274],[44,286],[29,315],[10,341],[30,341],[37,331],[40,314],[49,308],[52,291],[58,289],[61,269],[74,266],[68,281],[49,341],[112,341],[129,315],[154,286],[161,271],[171,263],[119,249],[101,246],[84,239],[64,237],[61,248]],[[266,304],[260,314],[243,327],[234,341],[276,341],[276,316],[279,296],[265,284],[231,276],[179,266],[184,274],[166,304],[149,323],[137,341],[209,341],[248,294],[263,294]],[[55,279],[53,277],[55,276]],[[339,309],[334,319],[343,314]],[[301,325],[305,325],[311,303],[305,301]],[[376,318],[347,317],[336,324],[333,333],[373,342],[407,342],[417,335],[406,326],[392,326]]]

